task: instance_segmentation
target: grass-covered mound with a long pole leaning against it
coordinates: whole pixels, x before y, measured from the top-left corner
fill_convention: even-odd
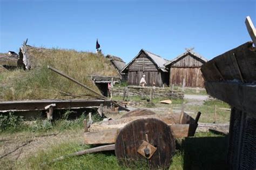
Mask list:
[[[15,70],[1,73],[0,100],[72,99],[95,96],[83,87],[50,71],[47,65],[96,91],[98,89],[89,75],[118,76],[109,60],[95,53],[28,46],[28,55],[32,67],[30,71]]]

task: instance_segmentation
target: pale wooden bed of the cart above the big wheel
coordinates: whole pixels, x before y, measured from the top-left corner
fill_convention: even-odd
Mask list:
[[[151,114],[101,121],[87,129],[84,133],[84,141],[85,144],[114,144],[119,131],[125,125],[131,121],[146,118],[156,118],[166,123],[171,127],[174,138],[191,137],[196,132],[199,117],[198,114],[195,120],[186,113],[183,113],[182,117],[180,114]]]

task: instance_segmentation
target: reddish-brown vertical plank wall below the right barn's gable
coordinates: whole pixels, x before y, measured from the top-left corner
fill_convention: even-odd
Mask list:
[[[183,84],[185,78],[186,87],[204,87],[204,78],[200,67],[171,67],[170,84]]]

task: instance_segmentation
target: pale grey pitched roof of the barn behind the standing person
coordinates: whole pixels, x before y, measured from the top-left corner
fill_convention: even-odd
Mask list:
[[[167,72],[167,70],[165,70],[165,64],[166,64],[167,62],[169,62],[169,60],[166,60],[166,59],[164,59],[164,58],[162,58],[162,57],[160,57],[160,56],[158,56],[158,55],[155,55],[155,54],[152,53],[152,52],[146,51],[146,50],[144,50],[144,49],[140,50],[139,53],[138,53],[138,55],[137,55],[136,57],[134,57],[134,58],[131,60],[131,62],[129,62],[129,63],[123,68],[123,70],[122,70],[121,72],[123,72],[128,66],[130,66],[130,65],[133,63],[133,61],[134,61],[142,52],[145,52],[145,54],[146,54],[148,57],[150,57],[150,58],[152,59],[152,62],[153,62],[154,64],[156,64],[156,66],[157,66],[158,69],[160,69],[160,70],[163,71],[163,72]]]

